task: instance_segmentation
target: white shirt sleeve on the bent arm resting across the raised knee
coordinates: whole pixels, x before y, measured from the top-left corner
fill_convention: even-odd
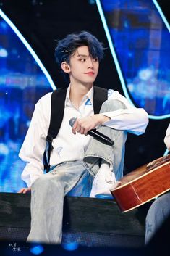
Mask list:
[[[103,125],[136,135],[143,134],[148,125],[148,113],[143,108],[134,107],[118,91],[109,90],[108,95],[108,99],[116,99],[122,102],[125,108],[103,113],[103,115],[111,118]]]

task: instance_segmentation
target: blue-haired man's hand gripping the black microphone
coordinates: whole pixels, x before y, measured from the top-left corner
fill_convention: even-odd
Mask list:
[[[87,135],[88,131],[110,120],[102,114],[91,115],[90,117],[77,118],[72,127],[72,133],[81,133]]]

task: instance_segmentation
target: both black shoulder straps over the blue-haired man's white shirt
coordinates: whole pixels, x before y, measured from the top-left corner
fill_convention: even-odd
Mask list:
[[[43,154],[44,169],[48,173],[50,170],[50,154],[52,149],[52,141],[59,133],[63,116],[64,116],[64,102],[66,98],[67,88],[59,88],[53,91],[51,95],[51,118],[48,128],[48,135],[46,141],[48,142],[48,149]],[[108,91],[105,88],[94,86],[93,107],[94,113],[98,114],[101,110],[101,105],[106,101]]]

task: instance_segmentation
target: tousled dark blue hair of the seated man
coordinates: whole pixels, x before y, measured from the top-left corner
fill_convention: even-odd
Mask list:
[[[66,38],[58,41],[54,55],[59,66],[61,67],[63,61],[69,64],[70,57],[80,46],[88,46],[89,53],[93,58],[98,58],[99,61],[103,58],[103,44],[92,34],[82,31],[77,34],[69,34]]]

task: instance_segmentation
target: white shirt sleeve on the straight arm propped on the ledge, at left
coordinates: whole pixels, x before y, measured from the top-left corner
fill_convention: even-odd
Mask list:
[[[43,152],[46,148],[46,133],[51,115],[51,93],[43,96],[37,104],[30,122],[19,157],[26,162],[21,178],[30,187],[36,178],[43,175]]]

